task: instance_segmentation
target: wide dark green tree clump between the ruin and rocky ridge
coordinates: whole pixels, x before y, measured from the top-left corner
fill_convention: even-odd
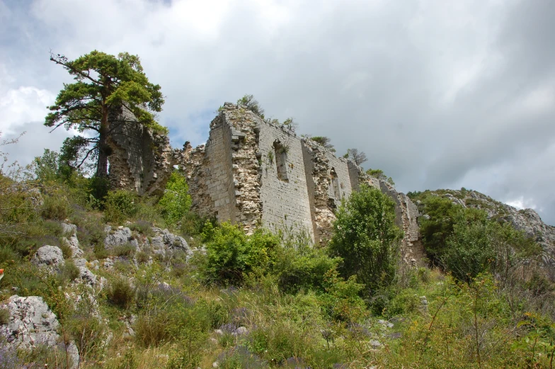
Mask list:
[[[540,253],[539,246],[508,224],[488,220],[486,212],[430,196],[420,223],[425,250],[459,280],[469,282],[485,271],[507,280],[523,261]]]

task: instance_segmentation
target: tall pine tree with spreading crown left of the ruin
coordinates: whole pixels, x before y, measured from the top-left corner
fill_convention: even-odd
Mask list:
[[[76,81],[64,84],[55,104],[49,107],[45,125],[92,133],[64,142],[62,157],[74,168],[80,169],[87,159],[95,159],[96,175],[107,176],[107,140],[114,127],[132,121],[122,114],[124,106],[137,123],[167,132],[154,120],[154,113],[164,104],[160,86],[149,82],[137,55],[122,52],[115,57],[94,50],[72,61],[63,55],[50,55],[50,60],[64,67]]]

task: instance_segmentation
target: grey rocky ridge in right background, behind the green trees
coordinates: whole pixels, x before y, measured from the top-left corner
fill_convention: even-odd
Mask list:
[[[437,195],[448,198],[452,203],[461,205],[464,208],[476,208],[487,212],[491,219],[508,222],[515,229],[525,232],[529,237],[538,242],[544,250],[544,263],[555,266],[555,227],[547,225],[539,217],[538,213],[532,209],[518,210],[513,206],[500,203],[497,200],[479,193],[478,191],[466,190],[435,190],[424,191],[422,193],[408,193],[413,198],[420,210],[423,210],[421,200],[426,195]],[[423,214],[423,217],[426,217]]]

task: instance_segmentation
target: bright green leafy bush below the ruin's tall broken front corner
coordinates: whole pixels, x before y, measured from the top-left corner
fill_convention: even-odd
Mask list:
[[[247,237],[241,229],[228,223],[205,228],[205,278],[210,283],[241,285],[246,274],[264,273],[274,263],[275,249],[280,244],[275,235],[257,229]]]

